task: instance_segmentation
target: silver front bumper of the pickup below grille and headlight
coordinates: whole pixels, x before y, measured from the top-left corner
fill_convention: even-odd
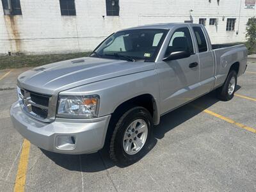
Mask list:
[[[104,146],[111,117],[86,120],[56,118],[48,124],[26,115],[19,102],[12,104],[10,116],[15,129],[24,138],[40,148],[61,154],[89,154],[100,150]],[[65,138],[72,138],[71,144]]]

